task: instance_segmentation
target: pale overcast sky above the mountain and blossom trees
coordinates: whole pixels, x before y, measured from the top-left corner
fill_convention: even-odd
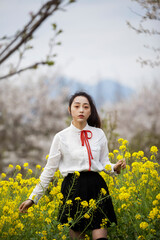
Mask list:
[[[13,35],[22,29],[30,19],[29,13],[36,12],[44,2],[0,0],[0,36]],[[49,39],[53,37],[51,24],[56,23],[63,30],[57,38],[62,45],[54,49],[56,64],[49,69],[36,70],[35,77],[59,74],[90,84],[110,79],[132,88],[150,85],[159,78],[159,68],[142,68],[136,60],[139,57],[152,58],[153,53],[144,48],[144,44],[159,47],[160,41],[155,36],[138,35],[126,24],[130,21],[138,26],[142,13],[142,9],[131,0],[76,1],[65,7],[65,11],[57,11],[36,31],[34,50],[28,51],[23,64],[45,58]],[[155,22],[153,24],[156,26]],[[10,60],[15,61],[14,57]],[[27,74],[20,77],[25,78]]]

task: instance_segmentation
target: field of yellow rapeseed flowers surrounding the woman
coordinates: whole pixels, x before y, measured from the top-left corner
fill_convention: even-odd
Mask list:
[[[114,224],[108,229],[108,239],[119,240],[158,240],[160,239],[160,176],[159,164],[156,156],[158,149],[152,146],[150,157],[144,156],[143,151],[130,153],[128,141],[122,138],[119,141],[119,149],[109,153],[111,162],[125,157],[127,167],[120,175],[114,177],[101,172],[106,181],[110,195],[113,200],[118,225]],[[21,174],[21,168],[26,171],[25,176]],[[10,171],[13,175],[10,177]],[[13,171],[14,170],[14,171]],[[107,197],[106,190],[101,189],[99,199],[91,199],[89,202],[79,202],[76,219],[68,216],[66,224],[60,224],[57,220],[58,209],[63,201],[61,184],[63,177],[57,171],[50,183],[46,194],[37,205],[28,209],[27,213],[19,212],[19,205],[31,194],[35,185],[39,182],[38,176],[43,169],[36,166],[33,174],[29,164],[23,166],[9,165],[8,172],[0,176],[0,239],[2,240],[65,240],[69,239],[69,228],[80,218],[87,219],[88,223],[94,211],[99,207],[100,201]],[[110,166],[106,166],[110,171]],[[80,175],[75,172],[75,179]],[[72,207],[70,199],[66,207]],[[104,228],[108,219],[102,220],[101,227]],[[91,239],[86,232],[85,239]]]

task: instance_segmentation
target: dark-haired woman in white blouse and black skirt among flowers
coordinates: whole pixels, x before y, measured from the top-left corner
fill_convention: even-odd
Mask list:
[[[77,199],[85,203],[86,201],[88,203],[90,199],[97,200],[99,205],[95,207],[92,218],[87,220],[81,217],[77,223],[72,225],[70,236],[72,239],[83,239],[84,231],[90,229],[93,240],[107,239],[107,229],[101,228],[103,219],[107,216],[107,226],[110,226],[112,222],[117,224],[117,220],[108,188],[99,172],[105,171],[105,166],[109,165],[112,175],[119,174],[121,169],[126,167],[126,162],[125,159],[119,160],[116,164],[109,161],[107,139],[100,128],[100,118],[91,96],[85,92],[75,93],[69,101],[68,111],[72,117],[71,125],[55,135],[48,162],[40,176],[40,183],[35,187],[29,199],[20,205],[19,210],[25,212],[34,203],[38,203],[55,171],[59,169],[64,176],[61,188],[64,201],[59,210],[59,221],[67,222],[68,210],[64,207],[67,200],[71,200],[72,203],[70,216],[73,219],[79,206]],[[76,180],[75,171],[80,173]],[[68,187],[72,188],[69,196]],[[100,199],[102,189],[107,194],[106,197]]]

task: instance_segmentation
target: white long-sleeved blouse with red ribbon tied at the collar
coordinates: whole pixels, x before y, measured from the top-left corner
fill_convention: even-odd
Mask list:
[[[68,128],[54,136],[40,183],[36,185],[29,199],[38,203],[57,169],[65,177],[75,171],[105,171],[107,164],[111,166],[109,174],[116,175],[115,164],[109,161],[107,138],[103,130],[87,124],[81,131],[71,123]]]

